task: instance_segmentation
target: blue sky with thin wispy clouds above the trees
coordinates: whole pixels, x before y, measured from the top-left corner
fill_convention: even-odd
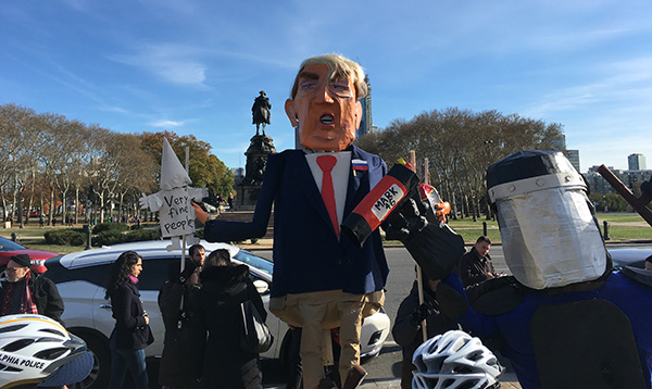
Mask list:
[[[301,61],[358,60],[379,128],[449,106],[564,125],[581,171],[652,168],[652,2],[4,1],[0,104],[120,133],[172,130],[243,166],[251,105],[293,147],[284,112]]]

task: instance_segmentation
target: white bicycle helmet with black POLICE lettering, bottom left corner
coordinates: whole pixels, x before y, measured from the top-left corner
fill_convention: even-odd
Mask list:
[[[84,340],[49,317],[0,317],[0,389],[42,382],[86,353]]]

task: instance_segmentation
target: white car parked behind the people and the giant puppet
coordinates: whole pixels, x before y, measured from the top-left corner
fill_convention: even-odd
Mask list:
[[[104,388],[109,379],[109,336],[115,325],[112,317],[111,303],[104,300],[105,281],[109,268],[117,256],[128,250],[142,256],[142,273],[138,277],[143,309],[150,317],[150,326],[154,334],[154,342],[146,351],[148,360],[160,357],[163,351],[165,328],[158,305],[159,289],[167,278],[167,266],[180,263],[181,250],[166,251],[170,240],[154,240],[115,244],[87,251],[74,252],[46,262],[46,276],[52,279],[64,300],[65,310],[62,319],[67,329],[83,338],[93,353],[95,364],[90,376],[82,382],[82,388]],[[236,263],[249,265],[250,276],[261,292],[265,308],[269,303],[269,285],[274,263],[226,243],[209,243],[201,241],[208,254],[217,249],[227,249]],[[186,258],[188,254],[186,252]],[[274,335],[272,349],[262,357],[281,359],[287,363],[291,337],[287,334],[287,325],[276,316],[267,316],[267,325]],[[374,356],[380,352],[389,334],[390,323],[385,311],[366,317],[361,334],[361,355]],[[151,361],[151,360],[150,360]],[[287,364],[285,364],[287,366]],[[152,377],[151,380],[158,379]]]

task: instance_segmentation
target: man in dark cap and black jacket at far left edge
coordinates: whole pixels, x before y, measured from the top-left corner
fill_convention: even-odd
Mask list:
[[[57,285],[32,272],[30,264],[32,259],[27,254],[10,258],[4,271],[8,280],[0,289],[0,315],[37,313],[63,324],[63,299]]]

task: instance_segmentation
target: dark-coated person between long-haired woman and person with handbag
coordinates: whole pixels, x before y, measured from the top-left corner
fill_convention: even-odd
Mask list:
[[[192,368],[192,355],[197,351],[191,344],[196,331],[193,316],[199,292],[199,267],[187,260],[184,272],[180,272],[178,263],[171,264],[167,271],[167,280],[159,292],[159,308],[165,325],[159,384],[163,389],[199,388]]]

